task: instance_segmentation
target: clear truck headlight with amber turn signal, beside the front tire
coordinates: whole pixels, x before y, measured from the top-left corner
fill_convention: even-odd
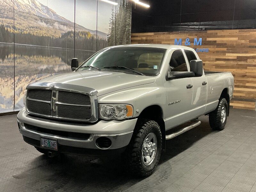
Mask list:
[[[133,107],[126,104],[100,104],[101,119],[124,119],[132,117]]]

